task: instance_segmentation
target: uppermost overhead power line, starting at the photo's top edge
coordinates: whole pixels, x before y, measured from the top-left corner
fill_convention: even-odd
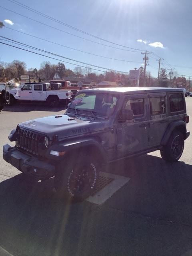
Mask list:
[[[34,12],[34,13],[36,13],[36,14],[38,14],[38,15],[41,15],[41,16],[43,16],[43,17],[45,17],[45,18],[48,18],[49,20],[53,20],[54,22],[57,22],[57,23],[62,24],[62,25],[64,25],[64,26],[67,26],[68,28],[72,28],[72,29],[74,29],[74,30],[76,30],[76,31],[78,31],[78,32],[81,32],[81,33],[83,33],[83,34],[86,34],[86,35],[88,35],[88,36],[92,36],[92,37],[97,38],[97,39],[99,39],[99,40],[108,42],[108,43],[110,43],[110,44],[115,44],[115,45],[122,46],[122,47],[125,47],[125,48],[129,48],[129,49],[132,49],[132,50],[142,51],[141,49],[131,48],[131,47],[128,47],[128,46],[124,46],[124,45],[122,45],[122,44],[117,44],[117,43],[111,42],[111,41],[109,41],[109,40],[106,40],[106,39],[104,39],[104,38],[100,38],[100,37],[98,37],[98,36],[95,36],[95,35],[93,35],[93,34],[90,34],[90,33],[88,33],[88,32],[85,32],[85,31],[83,31],[83,30],[80,30],[80,29],[78,29],[78,28],[76,28],[76,27],[74,27],[74,26],[71,26],[71,25],[66,24],[66,23],[64,23],[64,22],[62,22],[62,21],[60,21],[60,20],[57,20],[57,19],[55,19],[55,18],[53,18],[53,17],[51,17],[51,16],[48,16],[47,14],[44,14],[44,13],[42,13],[42,12],[39,12],[38,10],[35,10],[35,9],[33,9],[33,8],[31,8],[31,7],[29,7],[29,6],[25,5],[25,4],[22,4],[22,3],[20,3],[20,2],[18,2],[18,1],[16,1],[16,0],[8,0],[8,1],[10,1],[10,2],[12,2],[12,3],[14,3],[14,4],[18,5],[18,6],[21,6],[22,8],[25,8],[25,9],[27,9],[27,10],[30,10],[31,12]]]

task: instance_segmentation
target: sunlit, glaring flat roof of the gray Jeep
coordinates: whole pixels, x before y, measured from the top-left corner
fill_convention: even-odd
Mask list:
[[[166,87],[107,87],[107,88],[94,88],[85,89],[80,92],[118,92],[123,94],[129,93],[150,93],[150,92],[183,92],[182,88],[166,88]]]

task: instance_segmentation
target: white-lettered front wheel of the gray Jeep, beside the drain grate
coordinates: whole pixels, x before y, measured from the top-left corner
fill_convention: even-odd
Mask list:
[[[98,178],[98,163],[93,158],[79,157],[77,161],[62,161],[59,164],[55,188],[62,198],[78,202],[92,194]]]

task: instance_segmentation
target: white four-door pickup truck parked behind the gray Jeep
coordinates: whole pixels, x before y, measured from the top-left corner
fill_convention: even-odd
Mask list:
[[[26,83],[20,88],[9,90],[9,93],[10,105],[16,101],[41,101],[56,107],[60,101],[67,104],[72,100],[70,90],[51,90],[50,83]]]

